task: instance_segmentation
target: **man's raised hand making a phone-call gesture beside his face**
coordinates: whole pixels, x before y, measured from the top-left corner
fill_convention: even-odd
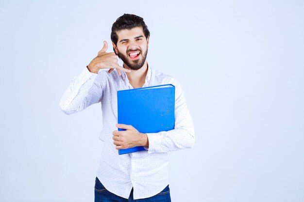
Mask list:
[[[104,41],[103,47],[98,52],[96,58],[94,58],[87,66],[90,72],[97,74],[100,69],[109,69],[108,72],[111,73],[114,69],[116,69],[119,76],[121,75],[120,71],[131,72],[130,69],[119,66],[116,54],[114,52],[106,53],[105,51],[107,49],[108,43]]]

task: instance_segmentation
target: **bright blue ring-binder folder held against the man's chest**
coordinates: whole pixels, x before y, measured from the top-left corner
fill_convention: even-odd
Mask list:
[[[118,91],[117,99],[118,124],[132,125],[141,133],[174,129],[175,86],[172,84]],[[119,149],[118,154],[143,150],[143,146],[136,146]]]

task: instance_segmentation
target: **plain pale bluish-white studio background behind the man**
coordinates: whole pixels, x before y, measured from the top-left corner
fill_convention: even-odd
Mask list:
[[[303,202],[301,0],[1,0],[0,201],[94,201],[100,104],[59,101],[124,13],[194,120],[194,148],[169,153],[172,202]]]

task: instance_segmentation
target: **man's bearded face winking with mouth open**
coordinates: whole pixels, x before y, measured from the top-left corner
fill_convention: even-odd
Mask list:
[[[143,29],[135,27],[131,30],[117,32],[117,46],[114,43],[118,57],[132,70],[140,69],[146,62],[149,47],[149,37],[146,39]]]

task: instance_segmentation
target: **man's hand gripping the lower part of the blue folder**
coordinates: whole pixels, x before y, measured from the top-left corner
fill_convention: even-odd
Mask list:
[[[132,125],[116,124],[116,127],[126,129],[113,131],[112,139],[116,149],[127,149],[135,146],[149,147],[147,134],[138,132]]]

